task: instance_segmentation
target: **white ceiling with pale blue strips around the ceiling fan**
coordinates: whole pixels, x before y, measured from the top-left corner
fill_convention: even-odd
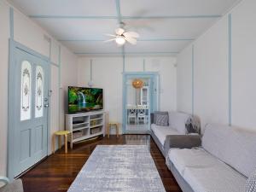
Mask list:
[[[9,0],[77,55],[120,55],[103,43],[119,20],[140,34],[126,55],[176,55],[240,0]],[[120,15],[119,15],[120,12]]]

